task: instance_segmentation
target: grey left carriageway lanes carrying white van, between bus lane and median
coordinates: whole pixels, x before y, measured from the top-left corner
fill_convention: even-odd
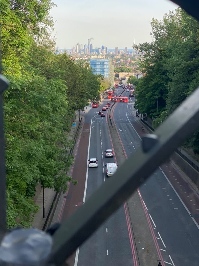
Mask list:
[[[108,100],[107,100],[108,101]],[[98,167],[88,169],[85,200],[106,182],[106,163],[115,162],[115,158],[105,158],[104,151],[113,149],[106,117],[101,118],[95,108],[85,117],[85,123],[91,122],[89,158],[97,158]],[[121,206],[104,224],[80,247],[78,263],[75,265],[134,265],[129,230],[124,206]],[[135,257],[135,256],[134,256]]]

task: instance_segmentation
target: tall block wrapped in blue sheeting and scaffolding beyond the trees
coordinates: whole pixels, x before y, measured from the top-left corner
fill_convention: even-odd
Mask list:
[[[101,74],[104,78],[114,84],[114,68],[111,59],[90,59],[90,66],[94,74]]]

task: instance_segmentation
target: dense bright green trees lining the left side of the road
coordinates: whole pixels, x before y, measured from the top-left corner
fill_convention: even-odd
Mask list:
[[[76,110],[99,99],[100,78],[85,62],[53,53],[50,0],[0,0],[7,177],[7,226],[30,226],[38,183],[56,191],[76,180],[68,139]]]

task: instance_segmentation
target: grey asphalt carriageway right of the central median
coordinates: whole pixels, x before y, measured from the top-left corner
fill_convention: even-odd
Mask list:
[[[125,92],[123,96],[128,96],[128,93]],[[115,125],[127,157],[133,153],[136,156],[136,150],[141,146],[140,137],[135,131],[137,129],[141,135],[141,126],[133,115],[133,105],[133,102],[122,105],[118,103],[113,112]],[[181,184],[180,175],[175,172],[174,176],[169,163],[164,164],[164,168],[166,167],[167,174],[173,174],[172,182],[177,180]],[[139,191],[151,218],[165,265],[169,263],[176,266],[198,265],[199,227],[161,167],[139,188]],[[193,191],[189,191],[189,194],[184,194],[184,191],[182,188],[182,196],[186,195],[187,199],[193,197]],[[195,194],[194,198],[197,198]],[[191,201],[189,204],[192,204]],[[199,201],[195,203],[195,213],[199,214]]]

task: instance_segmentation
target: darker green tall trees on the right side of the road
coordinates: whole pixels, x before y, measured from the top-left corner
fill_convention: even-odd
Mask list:
[[[151,43],[140,44],[146,75],[136,86],[136,103],[141,113],[155,117],[156,128],[192,93],[199,82],[199,23],[177,8],[152,19]],[[188,140],[199,151],[198,131]]]

